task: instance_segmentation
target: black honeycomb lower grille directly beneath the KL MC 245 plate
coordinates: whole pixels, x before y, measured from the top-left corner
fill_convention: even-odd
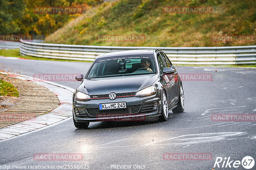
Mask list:
[[[126,109],[113,109],[113,110],[100,110],[99,108],[86,109],[89,116],[97,115],[120,115],[120,114],[132,114],[140,111],[141,105],[127,106]]]

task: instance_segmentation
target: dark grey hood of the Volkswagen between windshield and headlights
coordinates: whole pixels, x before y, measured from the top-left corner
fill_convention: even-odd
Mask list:
[[[78,90],[89,95],[137,92],[151,86],[157,78],[157,74],[148,74],[84,79]]]

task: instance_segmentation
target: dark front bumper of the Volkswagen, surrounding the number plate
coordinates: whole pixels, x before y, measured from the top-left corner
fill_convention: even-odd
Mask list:
[[[126,102],[126,109],[100,110],[100,103]],[[76,122],[99,121],[156,121],[161,114],[161,91],[147,97],[123,97],[73,101],[73,115]]]

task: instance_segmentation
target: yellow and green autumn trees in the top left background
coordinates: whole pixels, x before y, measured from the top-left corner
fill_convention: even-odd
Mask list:
[[[36,14],[35,7],[83,7],[103,0],[0,0],[0,34],[49,35],[82,14]]]

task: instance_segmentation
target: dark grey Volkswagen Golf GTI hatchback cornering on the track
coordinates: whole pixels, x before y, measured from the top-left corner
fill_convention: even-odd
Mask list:
[[[98,121],[166,121],[169,110],[184,111],[182,81],[161,50],[101,54],[76,80],[82,81],[73,94],[76,128]]]

